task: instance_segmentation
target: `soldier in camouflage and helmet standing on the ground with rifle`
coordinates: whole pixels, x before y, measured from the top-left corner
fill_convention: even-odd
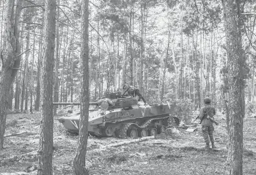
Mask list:
[[[214,145],[214,138],[213,138],[213,122],[211,122],[210,118],[213,119],[213,116],[216,114],[215,108],[211,105],[211,99],[206,97],[204,99],[205,106],[201,109],[199,114],[199,119],[201,120],[202,124],[202,136],[205,140],[205,148],[209,149],[210,142],[213,149],[216,149],[216,146]]]

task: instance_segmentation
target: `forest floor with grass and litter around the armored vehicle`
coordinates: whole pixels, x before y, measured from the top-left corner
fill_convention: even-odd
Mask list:
[[[72,174],[72,160],[76,152],[77,135],[70,135],[54,116],[54,174]],[[89,137],[87,168],[89,174],[224,174],[227,159],[227,133],[224,116],[217,115],[219,126],[214,135],[218,149],[205,146],[200,126],[189,133],[178,127],[172,135],[135,144],[98,149],[129,139]],[[244,119],[244,175],[256,174],[256,119]],[[7,116],[5,149],[0,152],[0,174],[37,174],[40,113],[16,113]],[[20,133],[20,135],[11,135]],[[100,151],[93,151],[98,149]]]

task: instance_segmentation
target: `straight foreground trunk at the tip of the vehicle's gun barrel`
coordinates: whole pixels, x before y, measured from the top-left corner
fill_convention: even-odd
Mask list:
[[[56,0],[45,1],[45,26],[44,44],[45,56],[43,59],[43,89],[42,89],[42,114],[40,122],[40,148],[38,155],[39,168],[37,174],[51,175],[53,155],[53,79],[54,79],[54,48],[55,48],[55,23]]]

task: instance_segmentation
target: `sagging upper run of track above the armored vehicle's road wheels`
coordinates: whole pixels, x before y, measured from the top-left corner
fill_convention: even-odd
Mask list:
[[[117,137],[119,138],[126,138],[127,137],[127,131],[129,129],[129,127],[133,126],[136,127],[139,130],[145,129],[147,126],[150,125],[151,122],[153,122],[154,120],[160,120],[160,119],[168,119],[169,116],[164,116],[161,118],[153,118],[153,119],[149,119],[147,121],[144,122],[144,124],[142,124],[141,126],[139,126],[139,124],[136,123],[128,123],[128,124],[123,124],[122,127],[120,128],[120,130],[118,130],[117,132]]]

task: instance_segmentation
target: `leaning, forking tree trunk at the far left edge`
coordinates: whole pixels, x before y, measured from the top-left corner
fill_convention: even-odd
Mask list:
[[[0,150],[4,148],[4,133],[7,117],[7,108],[9,107],[8,99],[10,95],[10,88],[18,68],[21,64],[21,45],[18,40],[19,37],[19,20],[21,16],[21,4],[23,0],[18,0],[16,4],[16,11],[14,15],[15,1],[7,0],[7,7],[5,11],[4,33],[6,36],[6,55],[2,60],[2,71],[0,74]],[[14,23],[12,23],[14,17]]]

